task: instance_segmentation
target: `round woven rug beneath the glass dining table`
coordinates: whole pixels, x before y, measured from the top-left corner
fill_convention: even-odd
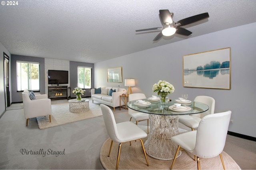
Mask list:
[[[143,142],[146,138],[143,139]],[[111,139],[108,138],[102,145],[100,150],[100,161],[105,169],[116,169],[116,159],[118,154],[118,143],[113,143],[110,157],[108,157],[108,152],[110,149]],[[146,164],[146,159],[140,144],[140,141],[132,141],[130,143],[124,143],[121,147],[120,160],[118,169],[170,169],[172,165],[172,160],[158,160],[148,156],[149,166]],[[226,153],[222,152],[223,161],[225,168],[228,170],[238,170],[241,169],[238,164]],[[201,169],[214,169],[223,170],[223,166],[220,160],[220,156],[214,158],[200,158],[200,168]],[[186,150],[182,150],[182,154],[178,157],[172,169],[189,169],[197,170],[197,162],[194,161],[194,155]]]

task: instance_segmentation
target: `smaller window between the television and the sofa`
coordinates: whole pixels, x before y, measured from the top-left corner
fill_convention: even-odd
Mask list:
[[[92,68],[78,66],[78,87],[92,88]]]

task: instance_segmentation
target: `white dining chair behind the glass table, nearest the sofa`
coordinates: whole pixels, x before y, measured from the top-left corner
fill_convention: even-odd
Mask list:
[[[133,93],[129,94],[129,102],[132,100],[140,100],[146,99],[146,95],[143,93]],[[142,113],[140,111],[135,111],[133,109],[128,109],[128,114],[130,115],[130,121],[134,119],[136,121],[136,125],[138,125],[139,121],[144,121],[149,119],[148,113]]]

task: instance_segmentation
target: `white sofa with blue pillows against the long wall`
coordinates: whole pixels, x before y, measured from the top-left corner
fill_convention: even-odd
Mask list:
[[[120,95],[126,94],[126,89],[119,88],[119,87],[106,87],[106,88],[100,88],[100,89],[101,89],[100,93],[95,93],[95,88],[91,90],[92,103],[93,101],[96,101],[101,104],[111,106],[114,108],[114,111],[115,111],[115,107],[120,106]],[[116,92],[112,92],[112,96],[108,95],[110,89],[116,90]],[[124,106],[124,105],[126,104],[121,100],[121,106]]]

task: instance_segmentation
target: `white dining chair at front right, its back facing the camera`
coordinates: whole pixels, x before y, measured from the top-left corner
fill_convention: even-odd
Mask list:
[[[178,149],[170,169],[174,165],[180,147],[196,156],[198,170],[200,170],[199,157],[212,158],[218,155],[225,169],[221,152],[226,143],[230,116],[231,111],[206,115],[200,121],[197,130],[171,137],[171,140],[178,145]]]

